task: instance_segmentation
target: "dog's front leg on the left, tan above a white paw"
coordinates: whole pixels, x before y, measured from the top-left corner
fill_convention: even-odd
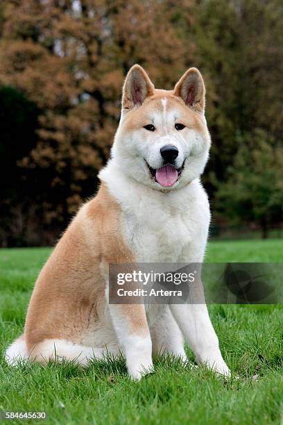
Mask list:
[[[144,305],[110,304],[110,314],[126,356],[128,373],[140,379],[153,368],[151,334]]]

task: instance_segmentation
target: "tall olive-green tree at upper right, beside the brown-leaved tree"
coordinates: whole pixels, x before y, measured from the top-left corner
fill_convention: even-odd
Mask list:
[[[214,197],[211,174],[225,181],[239,140],[257,128],[282,140],[282,2],[201,1],[193,31],[206,77],[212,150],[205,181]]]

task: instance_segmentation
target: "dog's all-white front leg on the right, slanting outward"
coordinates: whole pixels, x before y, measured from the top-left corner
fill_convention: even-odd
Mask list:
[[[196,360],[207,364],[219,374],[230,376],[230,370],[221,356],[218,338],[205,303],[172,304],[171,311],[194,351]]]

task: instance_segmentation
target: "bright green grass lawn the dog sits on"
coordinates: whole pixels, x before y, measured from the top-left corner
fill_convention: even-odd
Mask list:
[[[50,424],[283,423],[282,306],[209,306],[225,360],[239,377],[227,382],[173,359],[155,360],[153,374],[140,382],[130,381],[123,359],[87,369],[70,363],[8,367],[3,349],[22,333],[33,283],[49,253],[0,250],[0,410],[44,410]],[[282,262],[282,240],[212,242],[207,261]]]

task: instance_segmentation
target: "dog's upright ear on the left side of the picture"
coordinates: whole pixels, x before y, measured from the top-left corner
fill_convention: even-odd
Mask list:
[[[134,65],[130,68],[123,85],[122,108],[132,109],[141,106],[146,97],[153,94],[154,85],[144,68]]]

